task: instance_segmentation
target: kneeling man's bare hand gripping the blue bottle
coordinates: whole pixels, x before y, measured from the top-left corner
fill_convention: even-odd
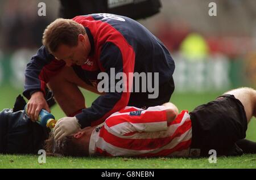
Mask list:
[[[31,121],[35,122],[38,120],[39,113],[42,109],[51,113],[46,99],[44,98],[44,94],[38,91],[31,95],[31,98],[27,103],[27,115],[30,117]]]

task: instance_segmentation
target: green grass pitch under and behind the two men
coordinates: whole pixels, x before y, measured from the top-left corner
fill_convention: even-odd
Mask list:
[[[13,108],[15,97],[22,90],[10,88],[8,85],[0,87],[0,109]],[[86,105],[90,106],[96,95],[83,92]],[[171,102],[179,110],[193,110],[197,105],[213,100],[218,93],[174,93]],[[64,113],[59,106],[52,108],[52,114],[61,118]],[[256,141],[256,119],[253,118],[247,130],[247,139]],[[210,156],[210,155],[209,155]],[[105,158],[105,157],[46,157],[45,164],[39,164],[39,155],[0,155],[0,168],[256,168],[256,155],[241,157],[217,157],[217,163],[210,164],[208,158]]]

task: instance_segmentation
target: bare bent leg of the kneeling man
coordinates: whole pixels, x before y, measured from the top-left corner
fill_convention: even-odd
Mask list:
[[[98,93],[96,88],[83,82],[73,68],[68,66],[64,67],[47,85],[53,91],[55,100],[66,115],[86,108],[85,98],[79,87]]]

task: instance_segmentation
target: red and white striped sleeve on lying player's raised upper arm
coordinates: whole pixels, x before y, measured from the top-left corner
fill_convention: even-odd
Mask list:
[[[115,113],[105,121],[105,126],[120,135],[135,132],[167,130],[167,115],[164,106],[154,106],[147,110]]]

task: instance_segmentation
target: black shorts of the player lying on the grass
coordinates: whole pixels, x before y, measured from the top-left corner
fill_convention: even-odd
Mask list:
[[[200,105],[191,113],[191,149],[200,149],[201,156],[228,155],[237,140],[246,136],[247,119],[240,100],[233,95],[222,95],[208,104]]]

